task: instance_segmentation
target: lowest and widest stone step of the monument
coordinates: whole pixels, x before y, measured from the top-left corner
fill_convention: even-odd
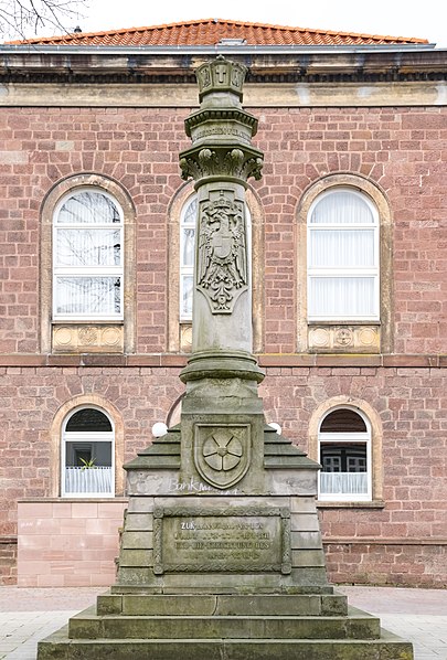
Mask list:
[[[412,645],[376,640],[68,639],[65,628],[39,645],[39,660],[412,660]]]

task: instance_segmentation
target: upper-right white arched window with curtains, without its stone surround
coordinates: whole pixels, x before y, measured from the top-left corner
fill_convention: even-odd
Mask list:
[[[308,320],[379,321],[379,213],[353,188],[321,193],[308,213]]]

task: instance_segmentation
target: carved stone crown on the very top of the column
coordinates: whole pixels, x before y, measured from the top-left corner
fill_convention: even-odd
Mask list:
[[[232,105],[240,106],[247,71],[247,67],[243,64],[226,60],[223,55],[219,55],[211,62],[205,62],[195,71],[200,102],[206,103],[206,97],[210,94],[213,94],[215,99],[216,93],[222,92],[226,103],[232,99]]]

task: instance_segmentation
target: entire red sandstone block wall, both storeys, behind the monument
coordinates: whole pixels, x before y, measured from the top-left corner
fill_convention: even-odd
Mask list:
[[[264,178],[254,184],[265,211],[264,351],[296,351],[297,207],[309,184],[342,171],[368,177],[390,201],[394,351],[421,358],[447,353],[447,108],[256,108],[255,114],[256,146],[266,152]],[[123,415],[129,458],[147,445],[151,425],[182,391],[175,369],[6,366],[4,354],[39,351],[42,200],[64,177],[92,171],[119,181],[135,202],[137,352],[166,351],[167,211],[181,185],[178,152],[188,146],[187,115],[187,109],[0,109],[0,536],[17,533],[18,499],[51,493],[49,428],[61,405],[93,392],[110,401]],[[382,419],[384,509],[322,510],[332,579],[445,584],[446,384],[446,369],[428,365],[269,370],[262,388],[267,416],[301,446],[311,413],[338,394],[362,397]],[[390,544],[396,537],[434,545]],[[373,543],[380,539],[390,543]],[[0,566],[8,581],[13,546],[3,547]]]

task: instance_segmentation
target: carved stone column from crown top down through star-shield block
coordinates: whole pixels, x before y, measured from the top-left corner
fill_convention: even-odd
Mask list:
[[[248,467],[260,469],[263,459],[256,387],[264,375],[252,355],[245,206],[247,180],[260,178],[263,153],[252,146],[257,119],[241,105],[246,71],[222,55],[198,68],[201,105],[185,120],[192,146],[180,153],[182,177],[194,179],[199,198],[192,355],[181,374],[182,467],[188,473],[193,459],[202,478],[221,489]],[[249,481],[254,487],[256,473]]]

